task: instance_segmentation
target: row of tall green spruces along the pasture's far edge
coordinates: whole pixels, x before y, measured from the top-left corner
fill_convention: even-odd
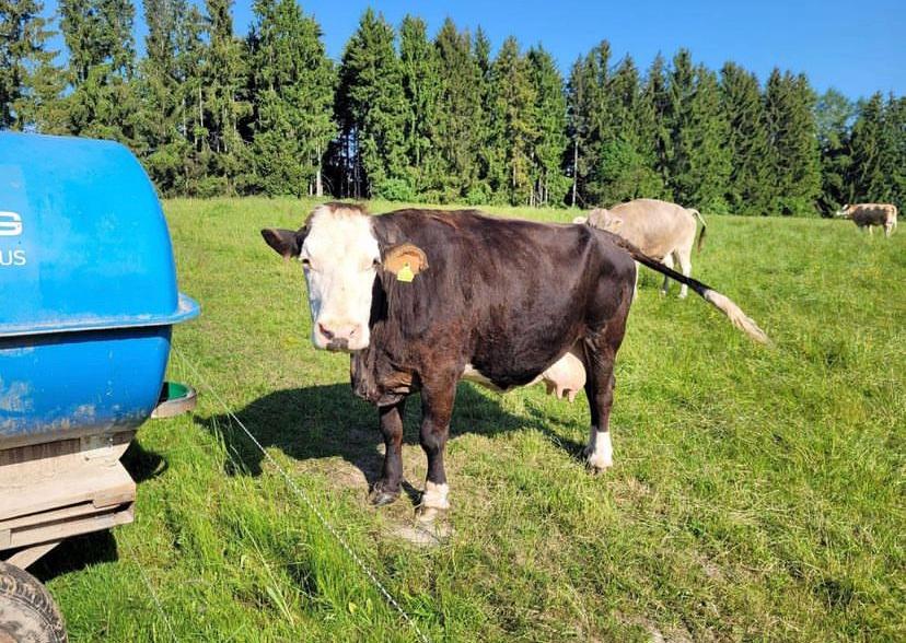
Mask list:
[[[602,42],[562,78],[541,46],[495,56],[367,10],[337,65],[294,0],[0,0],[0,128],[119,140],[166,196],[322,195],[591,207],[657,197],[710,212],[829,214],[906,196],[906,98],[818,96],[686,49],[640,71]],[[53,30],[66,65],[48,50]]]

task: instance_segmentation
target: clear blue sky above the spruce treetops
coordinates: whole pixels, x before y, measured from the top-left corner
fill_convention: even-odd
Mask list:
[[[137,37],[143,48],[141,0]],[[202,2],[202,0],[196,0]],[[235,0],[235,31],[244,35],[253,0]],[[46,0],[46,12],[56,10]],[[303,2],[324,31],[328,54],[338,59],[367,7],[398,25],[420,15],[433,35],[448,15],[460,27],[479,24],[495,47],[515,35],[527,47],[543,44],[566,73],[601,39],[615,59],[626,54],[647,68],[658,51],[680,47],[696,61],[719,69],[733,60],[764,81],[771,68],[803,71],[818,91],[836,87],[856,98],[878,90],[906,94],[906,0],[327,0]],[[59,44],[57,44],[59,46]]]

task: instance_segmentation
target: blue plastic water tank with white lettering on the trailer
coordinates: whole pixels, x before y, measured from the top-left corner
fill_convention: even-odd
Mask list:
[[[126,148],[0,133],[0,448],[138,428],[197,314]]]

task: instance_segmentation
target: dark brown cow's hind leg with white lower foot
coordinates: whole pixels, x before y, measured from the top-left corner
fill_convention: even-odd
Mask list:
[[[626,332],[628,313],[629,301],[625,301],[601,332],[585,339],[585,395],[589,398],[591,429],[583,455],[594,472],[603,471],[614,464],[609,426],[616,384],[614,361]]]

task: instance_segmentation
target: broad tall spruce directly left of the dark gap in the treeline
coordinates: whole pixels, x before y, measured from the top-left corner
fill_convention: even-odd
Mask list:
[[[294,0],[257,0],[254,12],[251,180],[268,195],[322,196],[322,159],[335,128],[334,70],[321,28]]]

